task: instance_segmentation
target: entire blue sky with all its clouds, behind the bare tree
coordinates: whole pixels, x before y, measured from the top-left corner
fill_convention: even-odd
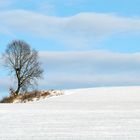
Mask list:
[[[14,39],[39,51],[39,89],[140,84],[139,0],[0,0],[0,53]],[[0,62],[0,92],[16,83]]]

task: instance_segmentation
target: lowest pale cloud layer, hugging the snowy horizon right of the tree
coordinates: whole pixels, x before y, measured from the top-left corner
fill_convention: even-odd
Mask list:
[[[94,86],[139,85],[140,79],[135,73],[126,74],[52,74],[39,82],[44,88],[84,88]],[[139,75],[140,76],[140,75]]]

